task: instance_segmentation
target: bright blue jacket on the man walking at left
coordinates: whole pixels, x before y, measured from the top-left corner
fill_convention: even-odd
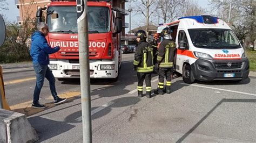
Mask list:
[[[40,31],[35,31],[31,37],[31,49],[30,55],[32,57],[33,64],[48,65],[49,54],[53,54],[59,51],[59,47],[51,48],[45,39],[45,35]]]

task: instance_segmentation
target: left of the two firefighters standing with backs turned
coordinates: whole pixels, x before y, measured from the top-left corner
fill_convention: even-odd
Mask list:
[[[151,73],[153,72],[153,47],[146,41],[146,32],[139,30],[135,36],[138,42],[133,66],[138,76],[138,96],[143,95],[143,81],[146,82],[146,97],[151,98]]]

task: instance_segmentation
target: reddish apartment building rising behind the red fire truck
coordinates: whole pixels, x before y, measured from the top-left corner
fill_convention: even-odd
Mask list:
[[[23,21],[30,17],[35,18],[36,12],[40,8],[47,8],[48,3],[51,1],[58,0],[15,0],[15,5],[19,9],[19,17],[17,17],[17,22],[22,24]],[[75,1],[76,0],[59,0],[59,1]],[[96,0],[94,0],[96,1]],[[103,1],[103,0],[100,0]],[[125,2],[128,0],[111,0],[114,10],[119,11],[123,14],[123,32],[122,35],[125,35],[125,28],[129,27],[128,23],[125,23],[125,15],[129,15],[129,12],[125,10]]]

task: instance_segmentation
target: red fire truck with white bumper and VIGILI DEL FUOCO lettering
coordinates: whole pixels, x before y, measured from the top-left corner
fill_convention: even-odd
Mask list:
[[[117,80],[122,59],[122,13],[112,8],[110,1],[88,1],[87,6],[90,77]],[[48,44],[60,47],[50,55],[49,68],[58,80],[79,78],[76,1],[52,0],[47,8],[37,11],[38,22],[43,21],[43,10],[46,10],[45,22],[49,27]]]

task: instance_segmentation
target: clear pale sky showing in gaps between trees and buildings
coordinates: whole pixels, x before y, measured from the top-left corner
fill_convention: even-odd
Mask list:
[[[7,20],[9,22],[17,22],[17,16],[19,16],[19,9],[17,9],[17,6],[15,5],[15,0],[7,0],[9,3],[8,8],[9,10],[3,10],[2,13],[5,15]],[[198,0],[198,5],[201,6],[202,8],[207,8],[208,7],[208,0]],[[129,3],[125,4],[125,9],[128,8]],[[139,15],[136,15],[135,12],[131,12],[131,23],[139,19]],[[129,16],[125,16],[125,23],[129,23]],[[131,28],[136,28],[136,25],[131,24]],[[129,31],[129,28],[125,28],[125,31]]]

